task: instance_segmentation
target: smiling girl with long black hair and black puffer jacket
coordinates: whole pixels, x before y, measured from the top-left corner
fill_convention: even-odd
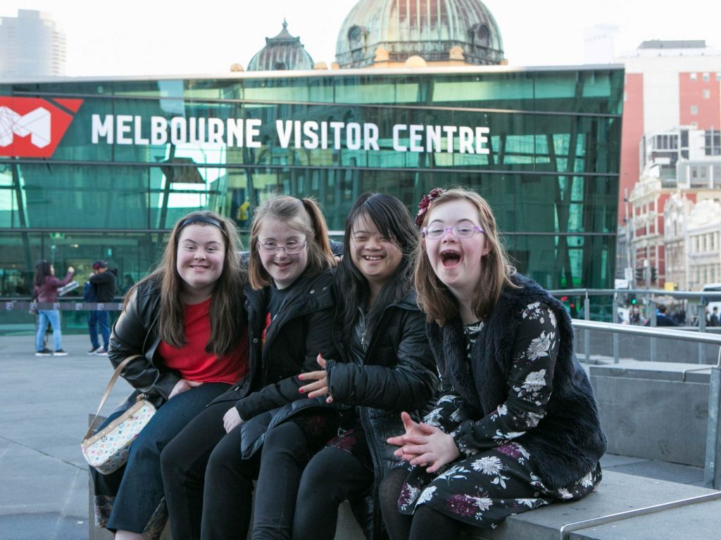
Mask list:
[[[410,214],[395,197],[365,194],[350,210],[335,287],[342,298],[333,328],[338,355],[324,355],[322,369],[299,378],[310,381],[300,389],[309,398],[352,408],[342,433],[303,472],[293,539],[331,540],[338,505],[347,498],[366,536],[381,538],[378,485],[398,461],[386,438],[402,433],[400,411],[428,405],[438,382],[411,287],[408,256],[416,243]],[[283,427],[270,433],[269,443],[281,440]]]

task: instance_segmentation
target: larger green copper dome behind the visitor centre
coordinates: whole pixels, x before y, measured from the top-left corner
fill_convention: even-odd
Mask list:
[[[340,27],[335,58],[341,68],[372,66],[383,48],[392,62],[412,55],[439,62],[457,47],[465,63],[503,60],[500,30],[480,0],[361,0]]]

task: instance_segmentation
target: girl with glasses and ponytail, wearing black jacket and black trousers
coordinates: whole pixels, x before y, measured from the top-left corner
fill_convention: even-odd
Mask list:
[[[312,451],[337,432],[337,413],[329,408],[324,413],[305,413],[294,405],[288,413],[283,408],[306,403],[298,392],[298,373],[317,369],[319,353],[335,355],[334,266],[325,220],[311,199],[273,197],[255,211],[250,285],[245,289],[248,372],[188,424],[161,456],[174,540],[245,538],[252,481],[259,474],[261,454],[267,453],[260,452],[262,441],[281,415],[293,416],[288,423],[298,428],[299,440],[288,438],[273,451]],[[270,476],[258,482],[255,523],[269,523],[265,509],[283,504],[278,499],[285,492],[294,503],[297,490],[297,479],[284,471],[265,472]]]

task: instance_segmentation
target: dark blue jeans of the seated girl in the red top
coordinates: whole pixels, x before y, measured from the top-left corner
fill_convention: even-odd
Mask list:
[[[131,444],[128,463],[112,474],[90,469],[95,488],[96,512],[105,505],[100,526],[111,531],[121,529],[134,533],[162,531],[167,519],[160,452],[185,425],[216,397],[229,389],[223,382],[206,382],[176,395],[162,405],[138,438]],[[228,408],[232,406],[229,405]],[[103,426],[121,413],[113,413]],[[114,497],[114,499],[113,499]],[[107,522],[105,522],[105,518]]]

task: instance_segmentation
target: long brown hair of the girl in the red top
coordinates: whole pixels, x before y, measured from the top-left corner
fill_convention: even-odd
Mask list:
[[[203,221],[207,220],[207,221]],[[216,223],[218,225],[216,225]],[[176,348],[185,341],[185,304],[182,301],[182,278],[177,271],[177,250],[180,231],[187,225],[216,227],[223,236],[225,261],[223,271],[213,287],[211,301],[211,337],[205,344],[205,351],[223,356],[235,350],[247,328],[243,311],[243,287],[247,283],[247,272],[240,263],[242,249],[235,223],[215,212],[191,212],[177,221],[170,233],[163,258],[158,267],[125,295],[125,305],[139,285],[151,280],[160,283],[160,338]]]

